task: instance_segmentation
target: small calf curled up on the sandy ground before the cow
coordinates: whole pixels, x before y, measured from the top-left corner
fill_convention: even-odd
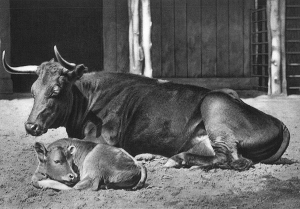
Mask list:
[[[147,172],[122,148],[62,138],[47,148],[36,142],[39,160],[32,176],[37,188],[85,189],[143,187]]]

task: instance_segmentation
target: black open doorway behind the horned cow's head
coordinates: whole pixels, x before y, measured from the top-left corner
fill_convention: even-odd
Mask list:
[[[102,0],[10,0],[11,65],[54,57],[102,70]],[[36,75],[12,75],[13,91],[28,92]]]

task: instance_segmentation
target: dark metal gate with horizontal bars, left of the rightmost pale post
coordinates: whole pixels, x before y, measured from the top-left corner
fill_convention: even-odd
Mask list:
[[[258,77],[257,90],[268,87],[268,41],[266,8],[251,9],[251,76]]]

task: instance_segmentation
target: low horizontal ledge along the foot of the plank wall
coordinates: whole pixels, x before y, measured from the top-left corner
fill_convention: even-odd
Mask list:
[[[258,85],[258,77],[155,77],[170,80],[176,83],[191,84],[209,89],[231,88],[231,89],[253,89]]]

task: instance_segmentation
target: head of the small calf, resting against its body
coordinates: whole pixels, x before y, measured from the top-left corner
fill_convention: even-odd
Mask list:
[[[34,150],[40,162],[39,166],[44,167],[45,174],[50,179],[67,185],[73,185],[79,180],[72,168],[74,146],[71,145],[67,148],[55,146],[47,150],[42,143],[35,142]]]

